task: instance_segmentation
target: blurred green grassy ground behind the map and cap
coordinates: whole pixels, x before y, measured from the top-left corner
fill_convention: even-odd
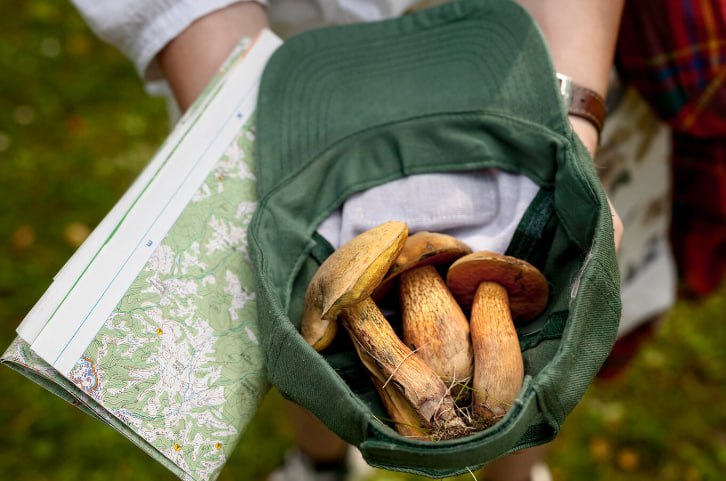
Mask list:
[[[0,0],[0,11],[4,350],[169,125],[164,102],[144,93],[132,65],[69,3]],[[0,432],[0,480],[176,479],[111,428],[6,367]],[[262,480],[291,445],[272,392],[219,479]],[[679,302],[620,377],[595,383],[549,463],[558,481],[726,479],[726,289]]]

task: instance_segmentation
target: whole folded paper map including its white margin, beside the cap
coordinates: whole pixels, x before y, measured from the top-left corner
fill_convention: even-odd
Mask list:
[[[268,389],[246,234],[258,85],[281,43],[240,44],[1,358],[185,480],[219,475]]]

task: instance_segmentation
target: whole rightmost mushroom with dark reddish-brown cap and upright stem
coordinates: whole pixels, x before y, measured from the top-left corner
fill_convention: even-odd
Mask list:
[[[544,310],[547,280],[526,261],[481,251],[454,262],[446,283],[465,308],[471,307],[473,408],[493,422],[506,414],[524,378],[513,320],[532,320]]]

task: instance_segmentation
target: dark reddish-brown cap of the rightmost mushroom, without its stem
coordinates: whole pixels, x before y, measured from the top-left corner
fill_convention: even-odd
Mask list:
[[[516,257],[474,252],[454,262],[446,275],[449,289],[467,309],[471,308],[474,293],[482,282],[496,282],[507,290],[515,320],[532,320],[547,306],[547,279],[532,264]]]

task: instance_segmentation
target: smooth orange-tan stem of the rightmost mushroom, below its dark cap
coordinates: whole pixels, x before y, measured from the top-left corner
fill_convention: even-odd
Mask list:
[[[501,284],[487,281],[477,287],[471,308],[471,340],[474,412],[496,420],[512,405],[524,378],[509,295]]]

